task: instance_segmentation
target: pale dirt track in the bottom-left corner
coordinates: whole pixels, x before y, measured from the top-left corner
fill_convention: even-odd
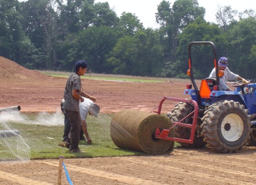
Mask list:
[[[27,184],[33,184],[33,185],[52,185],[52,183],[47,183],[47,182],[39,182],[37,180],[32,180],[25,178],[21,175],[15,175],[7,172],[0,171],[0,179],[2,180],[7,180],[8,183],[6,184],[21,184],[21,185],[27,185]],[[0,183],[3,185],[3,183]]]

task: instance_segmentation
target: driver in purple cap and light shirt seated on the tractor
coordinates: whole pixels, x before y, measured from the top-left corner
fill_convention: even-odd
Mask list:
[[[226,57],[221,57],[218,61],[219,70],[225,71],[223,77],[219,78],[219,90],[231,91],[229,86],[227,86],[227,81],[242,81],[244,85],[248,85],[250,83],[249,81],[246,81],[246,79],[239,77],[239,75],[231,72],[227,67],[228,64],[229,62],[227,61]],[[209,77],[216,78],[215,68],[211,71],[211,74]]]

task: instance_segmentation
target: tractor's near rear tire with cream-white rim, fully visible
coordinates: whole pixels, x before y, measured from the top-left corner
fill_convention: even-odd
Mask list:
[[[234,153],[241,150],[250,138],[251,123],[248,110],[239,102],[215,102],[202,118],[203,140],[211,150]]]

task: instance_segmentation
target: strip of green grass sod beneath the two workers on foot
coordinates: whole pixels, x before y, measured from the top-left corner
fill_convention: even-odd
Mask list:
[[[20,136],[0,138],[0,158],[15,158],[17,155],[21,155],[21,158],[27,157],[29,153],[26,152],[29,150],[31,159],[59,158],[61,155],[65,158],[146,155],[115,146],[110,136],[111,115],[103,113],[97,118],[87,116],[88,131],[93,144],[82,141],[79,148],[85,153],[70,153],[68,148],[58,146],[62,142],[64,117],[62,113],[56,114],[22,115],[15,112],[10,117],[15,116],[17,120],[11,118],[10,121],[2,121],[1,130],[18,130]],[[57,118],[59,120],[55,120]],[[22,152],[17,151],[17,147],[23,148]]]

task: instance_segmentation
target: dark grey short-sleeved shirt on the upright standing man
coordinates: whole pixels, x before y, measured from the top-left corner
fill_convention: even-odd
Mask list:
[[[70,111],[79,112],[79,99],[76,99],[72,95],[72,90],[80,91],[82,87],[81,78],[77,73],[72,73],[67,79],[66,87],[64,90],[65,102],[63,103],[63,108]]]

